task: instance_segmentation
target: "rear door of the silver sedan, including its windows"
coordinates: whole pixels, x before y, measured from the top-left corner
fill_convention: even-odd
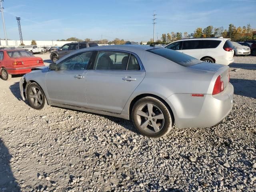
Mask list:
[[[121,113],[128,98],[145,76],[137,56],[122,51],[98,51],[86,75],[88,108]]]

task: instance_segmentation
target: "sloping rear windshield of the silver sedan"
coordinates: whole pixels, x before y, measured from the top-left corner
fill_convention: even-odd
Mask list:
[[[198,63],[202,63],[202,61],[191,57],[189,55],[186,55],[184,53],[180,53],[175,50],[171,50],[168,48],[155,48],[155,49],[150,49],[148,52],[152,52],[154,54],[157,54],[159,56],[162,56],[172,62],[175,62],[179,65],[182,65],[184,67],[192,66]]]

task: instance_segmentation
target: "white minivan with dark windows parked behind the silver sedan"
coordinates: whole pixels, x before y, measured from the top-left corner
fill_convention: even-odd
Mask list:
[[[174,41],[165,46],[205,62],[229,65],[234,62],[234,48],[227,38],[193,38]]]

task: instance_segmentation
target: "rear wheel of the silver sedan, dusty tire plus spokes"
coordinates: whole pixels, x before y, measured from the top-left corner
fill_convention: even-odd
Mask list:
[[[152,105],[152,115],[150,115],[149,105]],[[141,113],[143,114],[141,115]],[[160,117],[160,115],[163,119],[154,118],[157,116]],[[134,104],[132,108],[132,121],[135,128],[142,135],[152,138],[165,136],[173,126],[172,114],[167,106],[157,98],[151,96],[141,98]],[[157,131],[154,125],[158,127]]]

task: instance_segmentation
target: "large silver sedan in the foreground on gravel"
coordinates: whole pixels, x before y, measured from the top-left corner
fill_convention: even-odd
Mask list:
[[[81,49],[20,80],[30,106],[47,105],[132,120],[148,137],[175,126],[210,127],[232,109],[229,67],[142,45]]]

